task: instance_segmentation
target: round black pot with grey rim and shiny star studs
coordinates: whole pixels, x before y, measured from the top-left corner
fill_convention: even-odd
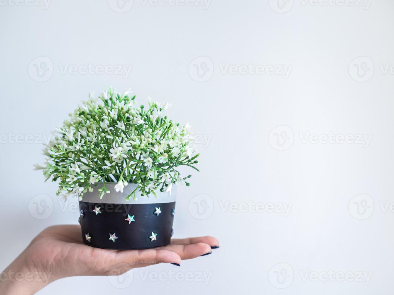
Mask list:
[[[148,249],[170,243],[175,216],[176,186],[172,193],[157,191],[157,198],[136,192],[137,201],[126,197],[136,188],[129,183],[123,193],[116,183],[106,183],[110,194],[99,198],[97,188],[79,201],[82,239],[86,245],[103,249]]]

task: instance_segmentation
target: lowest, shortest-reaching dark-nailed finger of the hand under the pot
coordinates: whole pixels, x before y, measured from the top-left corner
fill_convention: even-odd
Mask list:
[[[124,250],[116,253],[116,263],[154,264],[180,263],[180,256],[167,249]]]

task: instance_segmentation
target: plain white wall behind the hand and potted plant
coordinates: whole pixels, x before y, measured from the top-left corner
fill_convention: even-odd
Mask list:
[[[45,227],[77,223],[76,200],[60,205],[57,185],[33,164],[44,161],[43,136],[89,90],[112,85],[132,87],[140,103],[170,101],[169,116],[201,136],[201,173],[178,189],[175,237],[209,234],[221,248],[181,267],[134,269],[124,289],[106,277],[73,277],[40,295],[391,294],[394,75],[385,69],[394,65],[394,3],[155,3],[134,0],[125,11],[130,2],[122,10],[112,0],[1,0],[0,268]],[[96,70],[84,74],[89,63]],[[132,69],[97,68],[108,65]],[[76,72],[63,71],[70,66]],[[330,133],[348,140],[327,142]],[[32,198],[42,194],[50,208],[39,220],[33,201],[45,203]],[[249,201],[282,209],[242,205]],[[358,272],[372,277],[351,279]]]

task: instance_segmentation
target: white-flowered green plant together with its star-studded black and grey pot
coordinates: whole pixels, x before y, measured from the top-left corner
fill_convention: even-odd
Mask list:
[[[78,197],[86,245],[146,249],[169,244],[179,166],[199,171],[193,136],[149,99],[136,106],[130,90],[111,87],[89,95],[45,147],[46,179],[59,181],[57,195]]]

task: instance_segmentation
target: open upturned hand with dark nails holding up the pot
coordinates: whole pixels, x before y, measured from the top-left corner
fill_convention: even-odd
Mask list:
[[[85,245],[79,225],[56,225],[38,234],[2,273],[0,294],[33,294],[59,278],[122,274],[161,262],[180,264],[181,260],[210,253],[211,247],[218,246],[216,238],[206,236],[172,239],[170,245],[153,249],[106,250]],[[17,273],[26,278],[13,279]],[[29,281],[27,274],[32,274]]]

